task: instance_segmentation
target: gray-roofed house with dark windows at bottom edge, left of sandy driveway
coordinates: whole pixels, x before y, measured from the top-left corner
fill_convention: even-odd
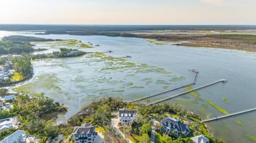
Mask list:
[[[95,126],[88,122],[76,126],[73,130],[73,136],[75,143],[93,143],[96,137]]]

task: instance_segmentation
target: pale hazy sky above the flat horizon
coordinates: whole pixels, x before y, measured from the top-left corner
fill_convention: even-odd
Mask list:
[[[0,0],[0,23],[256,24],[256,0]]]

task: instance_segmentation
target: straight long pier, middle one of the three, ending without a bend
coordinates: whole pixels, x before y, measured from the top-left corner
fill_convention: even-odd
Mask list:
[[[148,105],[153,105],[153,104],[157,104],[157,103],[161,103],[161,102],[164,102],[165,100],[169,100],[169,99],[172,99],[172,98],[175,98],[175,97],[178,97],[178,96],[181,96],[181,95],[184,95],[184,94],[187,94],[191,91],[196,91],[198,89],[201,89],[201,88],[204,88],[204,87],[208,87],[208,86],[211,86],[211,85],[214,85],[216,83],[219,83],[219,82],[226,82],[227,80],[225,79],[220,79],[218,81],[215,81],[215,82],[212,82],[212,83],[209,83],[207,85],[204,85],[204,86],[201,86],[201,87],[197,87],[197,88],[194,88],[194,89],[191,89],[191,90],[188,90],[188,91],[185,91],[185,92],[182,92],[180,94],[177,94],[177,95],[173,95],[173,96],[170,96],[170,97],[167,97],[167,98],[164,98],[164,99],[161,99],[161,100],[158,100],[156,102],[153,102],[153,103],[149,103]]]

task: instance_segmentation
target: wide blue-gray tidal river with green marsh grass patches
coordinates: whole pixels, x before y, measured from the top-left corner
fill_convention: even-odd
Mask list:
[[[60,47],[78,47],[79,50],[88,52],[114,52],[33,61],[33,65],[88,61],[35,68],[34,78],[17,87],[17,90],[31,94],[44,92],[46,96],[65,104],[69,110],[65,115],[60,116],[60,120],[68,119],[83,106],[102,97],[115,96],[130,101],[186,85],[193,80],[193,73],[187,71],[191,68],[199,71],[196,85],[156,96],[145,102],[153,102],[190,88],[219,79],[227,79],[226,83],[218,83],[168,102],[178,103],[204,119],[223,115],[220,109],[210,105],[209,101],[228,113],[256,107],[256,53],[220,48],[172,46],[170,43],[155,45],[138,38],[34,35],[22,32],[12,34],[76,39],[77,43],[90,41],[100,45],[95,48],[79,48],[77,45],[70,46],[70,44],[35,43],[37,45],[35,48],[48,48],[48,52]],[[0,35],[4,36],[3,32]],[[126,55],[132,58],[122,58]],[[215,137],[222,138],[226,142],[255,142],[255,119],[254,111],[207,124]]]

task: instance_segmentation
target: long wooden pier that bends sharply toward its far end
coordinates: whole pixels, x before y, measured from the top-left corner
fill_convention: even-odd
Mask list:
[[[135,100],[132,100],[131,102],[127,102],[127,103],[139,102],[140,100],[143,100],[143,99],[147,99],[147,98],[151,98],[151,97],[154,97],[154,96],[157,96],[157,95],[165,94],[165,93],[167,93],[167,92],[170,92],[170,91],[173,91],[173,90],[177,90],[177,89],[180,89],[180,88],[183,88],[183,87],[186,87],[186,86],[195,85],[195,83],[196,83],[196,77],[197,77],[198,71],[193,70],[193,72],[195,73],[195,77],[194,77],[194,80],[193,80],[192,83],[189,83],[189,84],[187,84],[187,85],[180,86],[180,87],[177,87],[177,88],[173,88],[173,89],[170,89],[170,90],[165,90],[165,91],[162,91],[162,92],[158,92],[158,93],[156,93],[156,94],[149,95],[149,96],[146,96],[146,97],[142,97],[142,98],[139,98],[139,99],[135,99]]]

